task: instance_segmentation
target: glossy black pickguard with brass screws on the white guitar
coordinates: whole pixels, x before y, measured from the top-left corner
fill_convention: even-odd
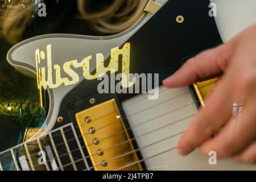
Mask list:
[[[162,84],[164,78],[180,67],[181,60],[185,57],[221,44],[215,20],[208,15],[208,6],[208,0],[169,0],[127,41],[131,43],[130,73],[159,73],[159,84]],[[183,23],[176,22],[178,15],[184,16]],[[108,63],[108,60],[106,61]],[[73,122],[76,127],[74,114],[92,106],[88,98],[93,94],[97,97],[96,104],[115,98],[121,111],[121,102],[134,96],[97,94],[99,82],[84,80],[64,97],[59,112],[64,120],[62,123],[56,123],[55,128],[69,122]],[[122,116],[125,117],[123,111]],[[126,125],[129,127],[127,121]],[[130,134],[132,135],[131,131]],[[136,143],[134,144],[136,146]]]

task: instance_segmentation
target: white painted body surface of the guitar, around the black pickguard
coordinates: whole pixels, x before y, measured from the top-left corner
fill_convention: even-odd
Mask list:
[[[256,22],[254,11],[248,11],[256,5],[256,2],[253,0],[246,2],[242,0],[214,0],[212,2],[217,3],[216,20],[224,42],[228,41],[246,26],[249,26],[249,24]],[[236,10],[241,9],[241,7],[244,8],[243,11]],[[234,14],[234,12],[237,14]],[[78,36],[87,39],[86,42],[82,39],[76,39],[76,35],[65,36],[65,40],[60,40],[61,35],[45,35],[28,39],[23,42],[21,47],[11,49],[7,60],[20,72],[29,75],[28,68],[24,65],[31,65],[31,60],[34,60],[35,57],[33,53],[28,54],[26,51],[38,46],[38,44],[46,45],[48,43],[52,43],[52,49],[55,53],[57,52],[58,60],[62,60],[63,63],[74,59],[68,52],[63,52],[59,48],[63,44],[70,46],[73,55],[76,55],[78,60],[82,60],[84,56],[96,55],[96,53],[99,53],[97,52],[99,50],[107,57],[110,55],[110,49],[126,42],[150,16],[150,14],[146,14],[140,20],[141,22],[138,26],[126,31],[125,35],[122,36],[114,35],[105,38]],[[252,17],[254,20],[251,19]],[[237,22],[238,19],[242,21]],[[235,26],[237,27],[234,28]],[[106,41],[101,41],[99,44],[97,40]],[[46,49],[46,47],[38,48]],[[24,64],[17,65],[14,60],[23,60]],[[60,62],[59,64],[62,65],[63,63]],[[32,67],[36,68],[35,63]],[[29,71],[32,75],[35,75],[35,69],[30,69]],[[77,73],[82,75],[81,71]],[[58,117],[61,100],[75,86],[62,85],[57,89],[48,90],[50,111],[46,119],[46,131],[52,130]],[[158,100],[148,100],[147,94],[141,94],[123,102],[122,106],[133,130],[138,147],[141,148],[140,151],[148,170],[256,169],[255,166],[235,163],[232,159],[217,160],[216,165],[210,165],[208,161],[210,156],[203,156],[198,150],[186,157],[181,157],[177,154],[175,148],[177,141],[185,129],[187,129],[193,116],[197,113],[196,104],[188,88],[166,89],[161,87]]]

